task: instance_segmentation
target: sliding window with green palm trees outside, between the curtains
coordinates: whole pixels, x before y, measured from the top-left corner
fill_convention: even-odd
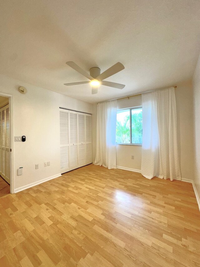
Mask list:
[[[116,143],[142,145],[142,107],[117,111]]]

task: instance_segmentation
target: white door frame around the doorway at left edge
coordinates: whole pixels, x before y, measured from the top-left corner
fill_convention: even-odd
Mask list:
[[[9,121],[10,121],[10,193],[14,193],[14,153],[13,153],[13,96],[0,92],[1,96],[9,98]]]

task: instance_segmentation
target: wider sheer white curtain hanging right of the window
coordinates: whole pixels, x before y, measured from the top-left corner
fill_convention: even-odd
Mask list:
[[[142,175],[181,180],[174,87],[142,94],[142,105]]]

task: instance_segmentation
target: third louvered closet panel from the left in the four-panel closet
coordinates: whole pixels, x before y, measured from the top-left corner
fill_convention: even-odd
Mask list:
[[[78,167],[86,165],[85,114],[78,113]]]

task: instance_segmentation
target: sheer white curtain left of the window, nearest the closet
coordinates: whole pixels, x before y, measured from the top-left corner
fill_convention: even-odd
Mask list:
[[[97,152],[94,165],[116,166],[117,100],[99,103],[97,106]]]

